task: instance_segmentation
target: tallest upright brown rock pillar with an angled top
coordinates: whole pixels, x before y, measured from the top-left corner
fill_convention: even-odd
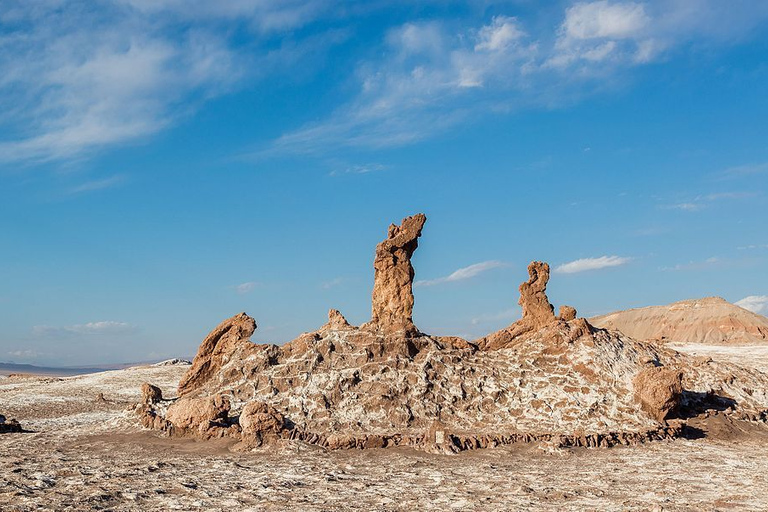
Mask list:
[[[411,256],[427,217],[406,217],[399,226],[389,226],[387,239],[376,246],[374,283],[369,328],[387,334],[418,334],[413,324],[413,277]]]

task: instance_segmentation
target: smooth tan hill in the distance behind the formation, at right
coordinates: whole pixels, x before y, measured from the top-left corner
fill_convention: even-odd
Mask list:
[[[701,345],[768,343],[768,318],[720,297],[617,311],[589,319],[639,340]]]

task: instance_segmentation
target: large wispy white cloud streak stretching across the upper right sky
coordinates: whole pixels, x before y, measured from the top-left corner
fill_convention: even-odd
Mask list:
[[[394,28],[377,53],[384,58],[356,70],[356,96],[263,154],[400,146],[491,112],[569,104],[692,41],[722,45],[749,37],[768,18],[768,6],[601,0],[574,3],[561,16],[559,23],[530,24],[538,30],[512,16],[474,26],[431,20]],[[539,28],[553,25],[554,31]]]

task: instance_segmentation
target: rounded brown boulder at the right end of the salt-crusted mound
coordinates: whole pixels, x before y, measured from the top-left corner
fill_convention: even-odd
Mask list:
[[[664,421],[680,405],[683,372],[658,366],[641,370],[632,381],[635,400],[657,421]]]

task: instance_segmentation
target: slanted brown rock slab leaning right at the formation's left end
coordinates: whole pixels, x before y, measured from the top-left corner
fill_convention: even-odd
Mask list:
[[[241,343],[250,343],[249,338],[255,330],[256,322],[245,313],[221,322],[197,350],[192,367],[179,383],[179,396],[202,387],[221,369],[227,354]]]

